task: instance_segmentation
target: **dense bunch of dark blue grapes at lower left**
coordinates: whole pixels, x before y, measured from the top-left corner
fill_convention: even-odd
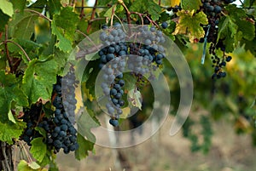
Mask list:
[[[27,145],[32,145],[31,142],[35,138],[44,137],[44,143],[49,150],[54,150],[55,153],[63,149],[65,154],[70,151],[76,151],[79,148],[77,141],[77,130],[74,128],[74,110],[76,100],[74,99],[74,88],[76,86],[73,68],[66,76],[68,83],[64,83],[64,87],[69,91],[67,100],[65,101],[67,111],[64,109],[61,93],[62,77],[57,77],[57,83],[53,86],[52,108],[50,114],[45,114],[45,106],[38,102],[32,105],[31,108],[26,108],[24,116],[21,117],[26,123],[26,130],[21,135],[20,139],[24,140]],[[73,91],[73,93],[71,92]],[[72,97],[72,98],[71,98]],[[42,134],[45,133],[45,135]]]

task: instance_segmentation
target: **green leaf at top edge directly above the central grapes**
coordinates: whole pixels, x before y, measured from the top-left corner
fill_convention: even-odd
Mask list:
[[[157,3],[154,3],[153,0],[141,0],[136,3],[131,3],[130,10],[139,13],[148,12],[152,20],[158,20],[162,9]]]

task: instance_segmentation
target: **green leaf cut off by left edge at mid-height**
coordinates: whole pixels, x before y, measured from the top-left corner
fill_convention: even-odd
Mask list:
[[[29,105],[26,94],[20,89],[15,75],[6,75],[4,71],[0,71],[0,111],[2,116],[0,121],[8,120],[7,116],[12,102],[20,106]]]

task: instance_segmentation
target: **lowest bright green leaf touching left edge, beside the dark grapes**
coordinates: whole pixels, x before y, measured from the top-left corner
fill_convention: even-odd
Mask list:
[[[9,145],[12,145],[13,139],[18,139],[24,128],[26,128],[26,123],[0,122],[0,140],[6,141]]]

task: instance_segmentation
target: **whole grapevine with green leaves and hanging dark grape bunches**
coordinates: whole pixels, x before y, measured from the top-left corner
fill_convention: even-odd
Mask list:
[[[172,49],[176,45],[194,79],[194,101],[200,105],[192,111],[208,111],[183,126],[192,151],[210,150],[210,123],[224,116],[256,145],[255,1],[240,6],[235,0],[96,0],[92,7],[84,0],[2,3],[0,170],[57,170],[55,157],[62,152],[87,157],[97,141],[91,129],[101,125],[104,113],[113,130],[143,125],[154,105],[160,105],[160,118],[165,106],[152,101],[150,84],[162,73],[173,95],[170,113],[178,111],[178,88],[191,86],[179,83],[183,65]],[[170,49],[169,39],[176,44]],[[80,73],[82,66],[88,68]],[[96,101],[106,102],[101,110]],[[131,116],[134,109],[137,115]],[[204,129],[201,144],[193,124]],[[14,147],[27,153],[18,164],[10,160]]]

